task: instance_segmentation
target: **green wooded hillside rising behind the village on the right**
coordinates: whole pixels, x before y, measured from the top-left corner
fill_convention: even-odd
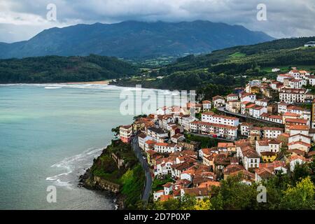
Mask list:
[[[251,78],[275,78],[274,66],[281,72],[291,66],[315,71],[315,48],[304,43],[315,37],[284,38],[255,45],[216,50],[209,55],[189,55],[173,64],[148,73],[149,78],[123,78],[114,85],[154,87],[170,90],[197,90],[208,99],[244,86]],[[163,78],[155,78],[163,76]]]

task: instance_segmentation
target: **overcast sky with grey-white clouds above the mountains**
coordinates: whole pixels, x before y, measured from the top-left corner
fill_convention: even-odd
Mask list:
[[[57,21],[47,20],[47,6]],[[257,6],[267,7],[258,21]],[[265,31],[276,38],[315,36],[315,0],[0,0],[0,42],[23,41],[50,27],[124,20],[210,20]]]

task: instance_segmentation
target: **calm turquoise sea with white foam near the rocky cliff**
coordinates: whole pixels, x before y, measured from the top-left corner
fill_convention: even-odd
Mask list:
[[[113,198],[78,188],[113,134],[122,87],[0,85],[0,209],[114,209]],[[56,186],[57,203],[46,189]]]

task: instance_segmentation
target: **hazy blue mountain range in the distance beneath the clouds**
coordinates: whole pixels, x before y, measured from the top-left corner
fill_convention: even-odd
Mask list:
[[[0,43],[0,58],[104,55],[126,59],[183,56],[274,38],[239,25],[209,21],[74,25],[46,29],[29,41]]]

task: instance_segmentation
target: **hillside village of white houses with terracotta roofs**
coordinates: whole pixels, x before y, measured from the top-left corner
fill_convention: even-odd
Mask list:
[[[203,199],[228,176],[241,175],[241,182],[251,185],[312,161],[314,85],[314,74],[292,68],[276,80],[251,80],[227,96],[164,106],[120,126],[119,137],[126,144],[137,141],[153,179],[170,180],[153,189],[154,201],[184,195]],[[187,134],[218,144],[202,148]]]

